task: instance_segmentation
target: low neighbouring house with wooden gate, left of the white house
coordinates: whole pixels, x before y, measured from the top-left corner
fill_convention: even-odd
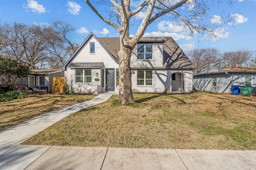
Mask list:
[[[62,78],[64,83],[64,71],[60,69],[32,69],[28,77],[20,78],[17,82],[19,90],[30,92],[54,92],[58,86],[54,79]]]

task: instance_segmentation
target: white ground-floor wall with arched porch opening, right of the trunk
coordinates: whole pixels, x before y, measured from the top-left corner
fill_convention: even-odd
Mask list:
[[[184,91],[191,92],[192,89],[192,78],[193,72],[189,70],[153,70],[153,85],[152,86],[137,86],[137,70],[132,70],[132,89],[137,89],[139,92],[163,92],[168,89],[172,89],[172,74],[175,72],[181,73],[184,76]]]

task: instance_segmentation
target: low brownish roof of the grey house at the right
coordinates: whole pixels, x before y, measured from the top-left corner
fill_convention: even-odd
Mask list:
[[[194,76],[202,76],[207,74],[222,74],[234,72],[256,72],[256,67],[212,67],[204,72],[194,74]]]

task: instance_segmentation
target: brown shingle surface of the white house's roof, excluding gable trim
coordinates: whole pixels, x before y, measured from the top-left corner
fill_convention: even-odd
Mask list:
[[[119,62],[118,50],[120,49],[119,37],[98,38],[102,45],[116,58]],[[140,41],[164,41],[163,45],[163,68],[166,69],[191,69],[195,68],[186,54],[178,46],[172,37],[142,37]]]

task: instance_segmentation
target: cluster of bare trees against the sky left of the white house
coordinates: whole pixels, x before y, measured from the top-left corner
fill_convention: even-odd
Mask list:
[[[62,21],[50,26],[0,23],[0,56],[30,68],[61,68],[78,48],[67,34],[74,28]]]

